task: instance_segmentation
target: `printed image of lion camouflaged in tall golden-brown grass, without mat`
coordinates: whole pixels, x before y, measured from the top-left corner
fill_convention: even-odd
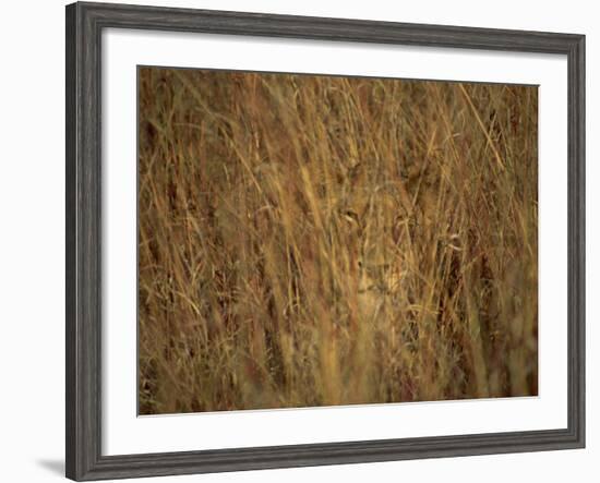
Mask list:
[[[141,68],[140,412],[537,394],[537,88]]]

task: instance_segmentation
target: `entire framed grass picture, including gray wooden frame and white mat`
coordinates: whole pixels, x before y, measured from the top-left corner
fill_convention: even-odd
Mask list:
[[[67,476],[585,445],[585,37],[67,7]]]

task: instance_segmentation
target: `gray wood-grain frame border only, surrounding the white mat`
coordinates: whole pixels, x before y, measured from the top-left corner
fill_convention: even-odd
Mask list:
[[[100,59],[104,28],[564,55],[568,61],[568,427],[184,452],[101,454]],[[67,7],[67,476],[76,481],[585,446],[585,36],[74,3]]]

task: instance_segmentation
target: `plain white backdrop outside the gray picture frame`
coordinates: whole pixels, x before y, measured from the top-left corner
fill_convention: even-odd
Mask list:
[[[132,3],[135,3],[132,1]],[[144,3],[160,3],[145,1]],[[163,2],[165,4],[166,2]],[[176,1],[170,5],[321,16],[584,33],[588,109],[588,448],[296,470],[180,476],[161,481],[413,481],[505,482],[507,479],[595,481],[600,424],[595,407],[600,310],[598,244],[600,101],[591,88],[600,68],[600,16],[590,1],[503,0],[389,2]],[[10,7],[9,7],[10,5]],[[12,2],[2,10],[0,52],[0,479],[58,481],[63,467],[64,333],[64,12],[59,1]],[[598,253],[598,252],[597,252]],[[575,473],[575,476],[573,476]]]

